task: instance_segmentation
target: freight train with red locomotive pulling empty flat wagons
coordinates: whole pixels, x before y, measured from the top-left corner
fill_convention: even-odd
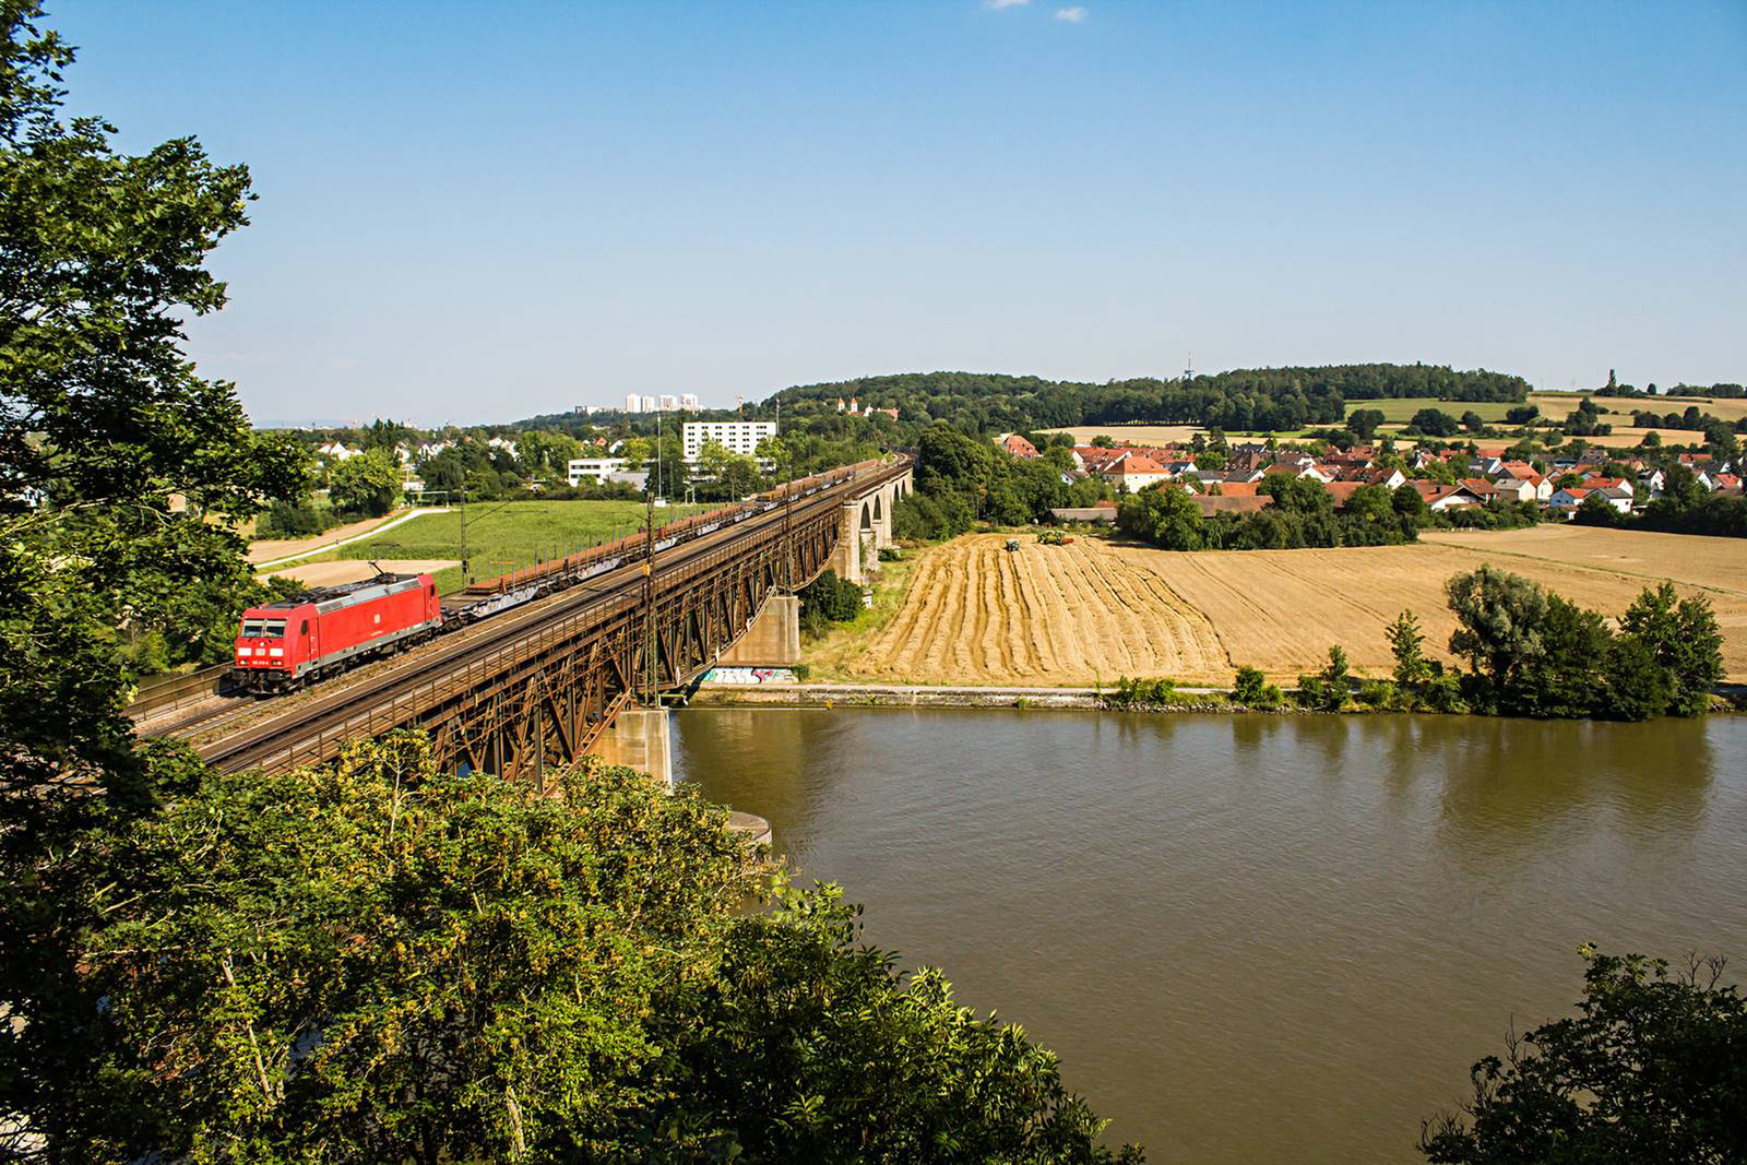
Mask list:
[[[877,465],[863,461],[669,522],[657,527],[655,550],[767,514],[788,498],[807,498]],[[400,651],[636,562],[646,555],[643,543],[641,533],[615,538],[512,575],[468,583],[442,597],[430,575],[381,573],[365,582],[253,606],[243,611],[232,674],[239,688],[255,695],[295,692],[367,658]]]

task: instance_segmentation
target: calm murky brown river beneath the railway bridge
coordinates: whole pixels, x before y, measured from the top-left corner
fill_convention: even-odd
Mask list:
[[[1747,961],[1747,718],[694,709],[867,938],[1062,1057],[1151,1162],[1415,1162],[1576,947]]]

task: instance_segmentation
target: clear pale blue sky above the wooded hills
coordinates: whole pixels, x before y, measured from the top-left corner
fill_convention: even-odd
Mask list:
[[[1069,19],[1078,16],[1078,19]],[[1747,379],[1747,3],[63,0],[257,419],[931,369]]]

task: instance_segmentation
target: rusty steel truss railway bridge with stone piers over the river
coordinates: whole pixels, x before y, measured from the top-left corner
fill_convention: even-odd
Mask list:
[[[187,735],[224,770],[321,763],[346,741],[423,728],[440,763],[507,779],[587,755],[669,779],[659,693],[718,662],[795,662],[795,592],[828,568],[865,582],[910,489],[908,458],[867,461],[547,564],[507,583],[540,597]]]

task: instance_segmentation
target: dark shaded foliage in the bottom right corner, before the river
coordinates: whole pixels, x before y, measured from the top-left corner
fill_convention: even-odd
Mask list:
[[[1474,1064],[1474,1099],[1427,1121],[1445,1165],[1747,1160],[1747,999],[1723,962],[1588,961],[1578,1015]]]

